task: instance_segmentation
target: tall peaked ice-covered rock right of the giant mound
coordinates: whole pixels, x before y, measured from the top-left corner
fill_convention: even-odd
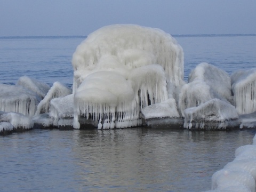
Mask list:
[[[186,108],[196,107],[214,98],[233,103],[230,77],[209,63],[200,63],[189,74],[188,84],[181,88],[179,109],[182,116]]]

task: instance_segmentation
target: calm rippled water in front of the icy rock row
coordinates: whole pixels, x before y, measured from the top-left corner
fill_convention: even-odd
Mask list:
[[[255,131],[32,130],[0,138],[3,191],[205,191]]]

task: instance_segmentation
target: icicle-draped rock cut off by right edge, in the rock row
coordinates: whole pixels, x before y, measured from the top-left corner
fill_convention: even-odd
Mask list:
[[[231,83],[238,114],[256,111],[256,68],[236,71],[231,75]]]

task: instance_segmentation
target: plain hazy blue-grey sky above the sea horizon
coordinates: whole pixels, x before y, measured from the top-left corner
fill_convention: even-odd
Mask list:
[[[175,34],[256,34],[256,0],[1,0],[0,36],[88,35],[116,23]]]

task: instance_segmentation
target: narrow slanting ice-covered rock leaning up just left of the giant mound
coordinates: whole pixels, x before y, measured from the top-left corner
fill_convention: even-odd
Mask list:
[[[69,89],[66,85],[63,85],[60,82],[53,83],[51,89],[47,92],[44,99],[41,100],[37,106],[35,115],[42,113],[49,113],[50,102],[54,98],[65,97],[72,93],[72,90]]]

